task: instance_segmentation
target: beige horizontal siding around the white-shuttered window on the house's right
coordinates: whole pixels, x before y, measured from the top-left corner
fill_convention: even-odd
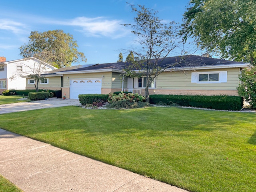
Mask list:
[[[198,70],[197,72],[213,72],[220,70]],[[239,83],[239,68],[221,69],[228,71],[226,83],[214,84],[196,84],[191,83],[191,73],[194,71],[184,72],[163,72],[157,77],[157,89],[184,89],[184,90],[236,90]]]

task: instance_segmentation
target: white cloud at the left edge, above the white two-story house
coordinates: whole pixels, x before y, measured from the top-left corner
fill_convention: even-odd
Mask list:
[[[8,30],[14,34],[27,34],[26,26],[20,22],[9,19],[0,19],[0,30]]]

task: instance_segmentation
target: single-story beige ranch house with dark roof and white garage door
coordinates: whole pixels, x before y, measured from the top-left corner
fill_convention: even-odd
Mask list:
[[[233,62],[202,56],[164,58],[161,66],[172,65],[159,74],[149,88],[150,94],[189,95],[238,95],[241,70],[252,67],[249,63]],[[144,94],[145,77],[124,76],[124,68],[129,63],[107,63],[92,66],[65,68],[45,73],[48,84],[40,88],[62,88],[67,98],[77,99],[79,94],[108,94],[116,91],[133,91]],[[27,80],[28,82],[28,80]],[[26,89],[32,85],[26,85]]]

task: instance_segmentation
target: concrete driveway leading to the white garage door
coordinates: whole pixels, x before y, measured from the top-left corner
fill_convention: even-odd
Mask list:
[[[70,105],[80,106],[81,104],[78,99],[49,98],[49,100],[0,105],[0,114]]]

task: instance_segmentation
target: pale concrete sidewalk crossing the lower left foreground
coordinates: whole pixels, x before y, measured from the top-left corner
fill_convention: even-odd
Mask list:
[[[24,192],[186,192],[3,129],[0,174]]]

